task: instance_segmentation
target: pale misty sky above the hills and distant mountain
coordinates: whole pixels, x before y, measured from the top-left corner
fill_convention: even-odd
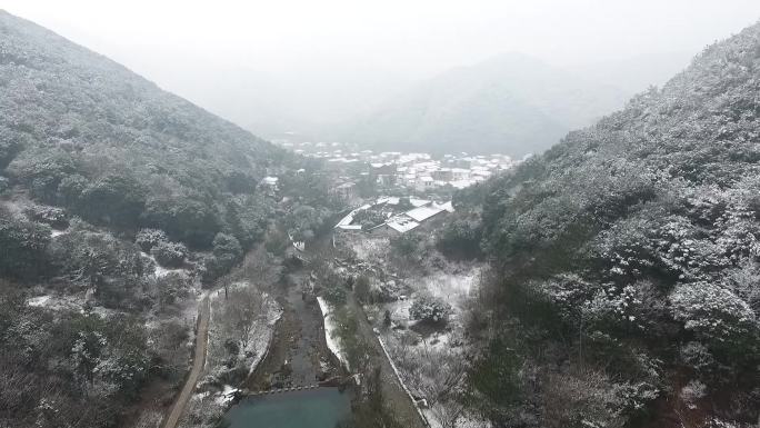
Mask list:
[[[266,76],[251,93],[271,89],[272,110],[289,103],[293,116],[330,116],[338,106],[329,119],[356,110],[352,96],[503,52],[588,72],[653,53],[688,62],[760,19],[758,0],[6,0],[0,8],[212,111],[223,101],[212,98],[227,97],[214,94],[224,80]],[[320,92],[337,87],[356,89]]]

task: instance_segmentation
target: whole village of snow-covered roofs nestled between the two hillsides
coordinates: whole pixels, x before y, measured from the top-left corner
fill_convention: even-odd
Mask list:
[[[514,160],[507,155],[433,157],[429,153],[359,150],[341,142],[279,143],[296,153],[324,162],[333,183],[331,192],[356,207],[336,225],[339,232],[373,235],[406,233],[436,225],[453,212],[452,195],[491,176],[513,168],[529,156]],[[264,183],[276,186],[274,177]]]

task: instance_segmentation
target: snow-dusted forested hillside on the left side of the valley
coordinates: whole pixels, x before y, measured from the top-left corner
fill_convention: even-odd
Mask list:
[[[0,426],[158,426],[201,288],[254,246],[277,270],[330,213],[318,171],[0,11]]]

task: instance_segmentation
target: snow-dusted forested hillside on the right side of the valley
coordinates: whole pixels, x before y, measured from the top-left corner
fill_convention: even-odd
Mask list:
[[[757,424],[760,24],[457,207],[497,426]]]

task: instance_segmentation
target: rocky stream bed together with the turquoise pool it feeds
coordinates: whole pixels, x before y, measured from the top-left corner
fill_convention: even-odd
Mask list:
[[[350,389],[316,387],[339,370],[329,362],[319,307],[302,293],[307,272],[292,277],[296,283],[278,297],[283,315],[269,355],[247,382],[261,394],[230,408],[224,415],[230,428],[334,428],[351,420]],[[278,391],[291,388],[309,389]]]

